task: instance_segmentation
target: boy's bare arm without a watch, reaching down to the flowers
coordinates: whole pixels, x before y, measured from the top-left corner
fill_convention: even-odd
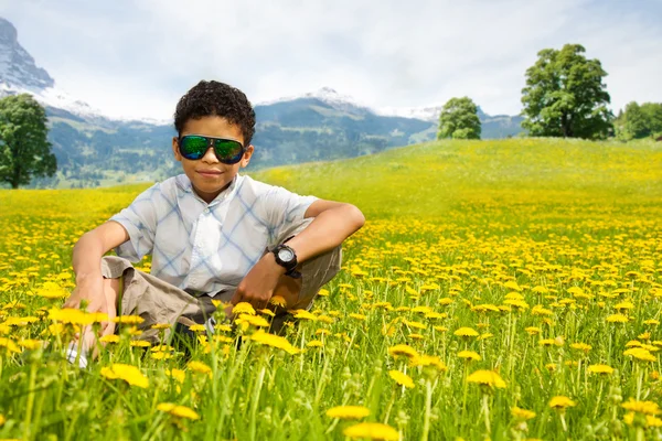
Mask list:
[[[129,239],[125,227],[109,220],[85,233],[74,245],[72,263],[76,275],[76,289],[64,302],[64,308],[79,308],[81,301],[88,302],[89,312],[107,313],[102,276],[102,257]]]

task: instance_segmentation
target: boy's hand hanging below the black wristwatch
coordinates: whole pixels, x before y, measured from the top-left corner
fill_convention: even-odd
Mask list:
[[[231,302],[233,304],[248,302],[256,310],[267,308],[269,299],[274,295],[274,289],[278,284],[278,279],[282,275],[285,275],[285,268],[276,263],[273,252],[267,252],[241,281]]]

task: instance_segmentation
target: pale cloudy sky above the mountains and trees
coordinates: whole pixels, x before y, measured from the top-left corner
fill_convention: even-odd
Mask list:
[[[0,0],[56,86],[110,117],[167,119],[200,79],[254,104],[331,87],[373,107],[469,96],[522,109],[538,51],[586,47],[617,111],[662,101],[662,0]]]

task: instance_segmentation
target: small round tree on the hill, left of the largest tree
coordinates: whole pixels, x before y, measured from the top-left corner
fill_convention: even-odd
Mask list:
[[[444,105],[439,116],[437,139],[480,139],[478,106],[471,98],[451,98]]]

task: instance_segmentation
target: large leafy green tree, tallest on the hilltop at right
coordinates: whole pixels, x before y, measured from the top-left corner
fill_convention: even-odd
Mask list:
[[[599,60],[587,60],[579,44],[545,49],[526,69],[522,127],[535,137],[606,138],[613,116]]]

